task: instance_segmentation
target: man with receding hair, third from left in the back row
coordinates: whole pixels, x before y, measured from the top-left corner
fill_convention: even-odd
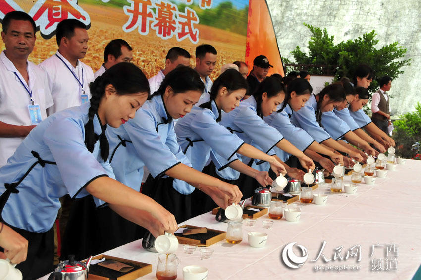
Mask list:
[[[133,48],[123,39],[114,39],[104,49],[104,63],[95,72],[95,79],[101,76],[111,66],[120,62],[130,62],[133,59]]]

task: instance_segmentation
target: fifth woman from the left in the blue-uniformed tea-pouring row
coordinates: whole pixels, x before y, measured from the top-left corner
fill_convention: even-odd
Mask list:
[[[312,91],[313,88],[310,83],[303,78],[291,81],[287,88],[285,100],[278,107],[279,110],[276,113],[264,117],[263,120],[270,126],[276,128],[288,141],[294,143],[299,150],[304,152],[304,154],[318,162],[321,167],[332,172],[335,164],[343,164],[342,155],[317,143],[310,134],[302,128],[294,126],[290,120],[295,112],[304,107],[310,99]],[[287,161],[288,165],[299,166],[298,160],[295,157],[290,157],[291,155],[289,153],[278,148],[274,148],[274,150],[282,161]],[[333,162],[320,154],[329,156]]]

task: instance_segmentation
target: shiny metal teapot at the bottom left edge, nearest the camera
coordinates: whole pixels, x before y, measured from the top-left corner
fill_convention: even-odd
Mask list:
[[[85,263],[75,261],[74,255],[69,255],[67,261],[61,261],[49,276],[49,280],[87,280],[92,256]]]

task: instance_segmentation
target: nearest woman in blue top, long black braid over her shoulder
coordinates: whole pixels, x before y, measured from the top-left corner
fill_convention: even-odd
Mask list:
[[[108,162],[105,129],[134,117],[149,93],[145,75],[133,64],[119,63],[91,84],[91,93],[90,102],[42,121],[0,168],[2,221],[29,241],[27,260],[17,265],[24,279],[53,270],[53,223],[59,198],[67,193],[92,194],[97,206],[136,209],[145,214],[136,223],[154,235],[177,228],[162,206],[114,180]]]

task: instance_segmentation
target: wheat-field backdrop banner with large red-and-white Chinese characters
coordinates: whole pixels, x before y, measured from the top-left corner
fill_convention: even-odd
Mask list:
[[[36,64],[55,53],[57,24],[68,18],[89,27],[82,61],[94,71],[103,63],[105,46],[117,38],[133,47],[134,63],[148,77],[164,68],[171,47],[189,51],[194,67],[196,47],[213,45],[218,61],[211,77],[219,75],[222,65],[245,59],[248,0],[0,0],[0,23],[14,10],[32,16],[40,32],[29,56]]]

